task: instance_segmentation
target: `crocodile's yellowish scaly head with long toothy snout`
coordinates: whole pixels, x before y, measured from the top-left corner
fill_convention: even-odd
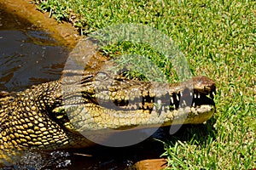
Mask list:
[[[207,77],[170,84],[111,78],[98,72],[83,77],[79,88],[71,91],[80,94],[75,99],[70,98],[73,94],[63,97],[71,122],[67,124],[82,133],[196,124],[206,122],[215,111],[215,82]]]

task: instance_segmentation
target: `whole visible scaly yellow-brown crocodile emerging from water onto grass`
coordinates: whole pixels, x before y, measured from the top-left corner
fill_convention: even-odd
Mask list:
[[[96,71],[84,74],[79,82],[67,80],[0,93],[0,164],[12,161],[22,150],[94,144],[84,132],[103,135],[108,130],[197,124],[215,112],[216,86],[208,77],[160,83]],[[73,88],[74,84],[79,88]]]

